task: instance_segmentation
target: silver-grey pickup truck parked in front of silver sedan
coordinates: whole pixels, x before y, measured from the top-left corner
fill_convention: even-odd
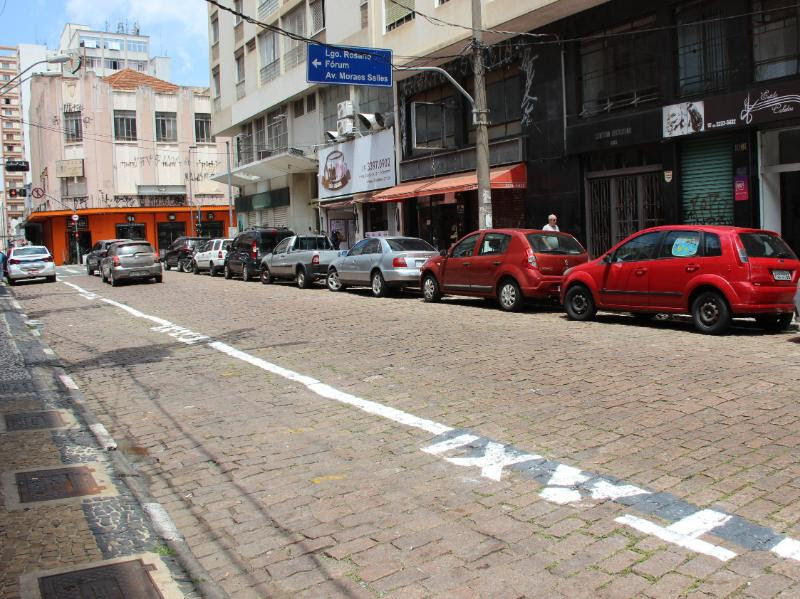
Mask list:
[[[300,289],[325,278],[339,251],[325,235],[293,235],[282,240],[261,260],[261,282],[294,280]]]

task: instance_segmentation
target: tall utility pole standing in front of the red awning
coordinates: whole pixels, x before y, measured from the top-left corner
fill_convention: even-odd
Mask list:
[[[475,72],[475,161],[478,174],[478,228],[492,228],[492,188],[489,179],[489,111],[483,69],[482,0],[472,0],[472,51]]]

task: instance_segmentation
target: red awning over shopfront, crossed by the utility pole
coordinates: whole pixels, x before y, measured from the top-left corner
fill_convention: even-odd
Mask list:
[[[492,189],[526,189],[528,170],[525,163],[493,168],[489,172]],[[454,193],[478,189],[478,175],[473,171],[435,179],[409,181],[396,187],[384,189],[372,196],[371,202],[400,202],[406,198]]]

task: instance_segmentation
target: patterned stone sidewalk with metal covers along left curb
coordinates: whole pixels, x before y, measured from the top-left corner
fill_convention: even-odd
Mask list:
[[[224,597],[39,337],[0,284],[0,599]]]

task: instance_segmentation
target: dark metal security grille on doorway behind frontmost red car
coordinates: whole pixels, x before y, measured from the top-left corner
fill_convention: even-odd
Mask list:
[[[651,170],[657,169],[657,170]],[[587,173],[586,213],[589,253],[599,256],[628,235],[663,224],[661,167],[610,173]]]

